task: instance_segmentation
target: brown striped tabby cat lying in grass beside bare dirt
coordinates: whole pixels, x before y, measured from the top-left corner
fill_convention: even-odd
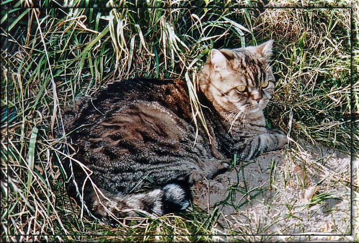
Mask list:
[[[122,80],[77,99],[63,115],[79,161],[68,166],[71,195],[111,225],[141,212],[164,215],[186,209],[190,186],[227,171],[235,153],[252,159],[284,148],[286,135],[267,130],[263,113],[275,85],[271,53],[272,40],[211,50],[197,91],[210,136],[201,124],[196,134],[181,79]]]

